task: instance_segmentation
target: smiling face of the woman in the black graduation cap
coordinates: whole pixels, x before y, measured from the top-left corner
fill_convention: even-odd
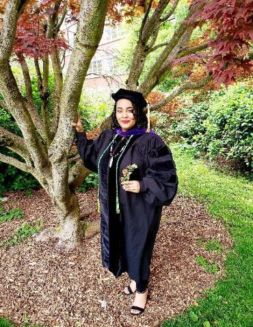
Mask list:
[[[116,103],[116,118],[123,132],[135,125],[133,116],[133,105],[130,100],[119,99]]]

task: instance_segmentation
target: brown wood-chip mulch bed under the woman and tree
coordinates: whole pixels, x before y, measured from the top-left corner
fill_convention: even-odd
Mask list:
[[[43,228],[57,226],[57,216],[49,196],[43,189],[8,192],[4,209],[21,208],[27,222],[44,220]],[[94,211],[97,190],[78,194],[81,211]],[[115,278],[101,266],[100,235],[85,240],[68,254],[55,248],[56,240],[0,248],[0,317],[17,325],[27,313],[29,322],[54,327],[85,326],[160,326],[164,319],[185,311],[204,291],[224,277],[226,251],[232,246],[230,235],[220,220],[213,220],[206,209],[191,198],[174,198],[170,207],[163,207],[163,217],[151,263],[150,300],[139,317],[130,314],[134,296],[125,296],[126,273]],[[93,218],[98,218],[94,211]],[[92,219],[93,219],[92,218]],[[23,220],[0,224],[0,240],[9,237]],[[219,239],[222,255],[207,251],[196,243]],[[196,263],[203,256],[216,262],[219,272],[208,273]],[[102,304],[106,304],[105,307]]]

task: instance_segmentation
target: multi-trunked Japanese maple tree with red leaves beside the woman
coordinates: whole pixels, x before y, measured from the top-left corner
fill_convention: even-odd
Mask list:
[[[75,140],[71,123],[77,120],[83,81],[101,40],[106,16],[112,22],[124,17],[131,23],[133,16],[141,20],[125,88],[148,96],[168,74],[175,73],[176,68],[180,70],[183,63],[189,65],[189,79],[153,103],[151,110],[166,105],[185,90],[202,88],[211,82],[218,88],[221,83],[235,81],[238,74],[251,73],[253,1],[187,1],[187,17],[176,25],[169,40],[157,42],[159,31],[174,16],[179,4],[180,0],[0,1],[0,105],[12,114],[22,132],[20,137],[0,127],[0,144],[23,161],[2,153],[0,160],[31,173],[51,196],[59,226],[42,231],[38,239],[57,237],[59,248],[68,251],[83,238],[75,190],[90,171],[79,155],[71,153]],[[62,24],[76,21],[75,43],[64,76],[62,59],[69,45]],[[195,29],[203,25],[208,25],[209,30],[192,38]],[[147,67],[148,73],[140,82],[148,56],[157,51],[157,59]],[[12,72],[12,58],[21,65],[26,96],[21,94]],[[36,68],[39,111],[34,103],[27,58],[33,60]],[[196,65],[197,72],[191,69]],[[54,76],[52,99],[50,66]],[[53,102],[53,115],[49,100]],[[106,120],[101,129],[107,127]],[[74,164],[71,168],[70,163]]]

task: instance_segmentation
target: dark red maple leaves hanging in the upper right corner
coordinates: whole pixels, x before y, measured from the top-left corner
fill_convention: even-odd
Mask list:
[[[215,38],[208,43],[213,53],[195,55],[196,60],[205,58],[205,65],[213,73],[217,88],[235,81],[236,76],[252,72],[252,62],[247,53],[253,40],[253,0],[194,0],[192,5],[204,4],[189,21],[211,21]],[[185,57],[192,60],[194,55]],[[181,58],[180,61],[182,61]]]

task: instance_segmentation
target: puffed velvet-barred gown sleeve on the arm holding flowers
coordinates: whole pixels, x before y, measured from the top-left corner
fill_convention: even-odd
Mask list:
[[[150,205],[170,205],[176,196],[178,176],[170,148],[161,138],[150,138],[146,151],[146,172],[139,181],[140,194]]]

